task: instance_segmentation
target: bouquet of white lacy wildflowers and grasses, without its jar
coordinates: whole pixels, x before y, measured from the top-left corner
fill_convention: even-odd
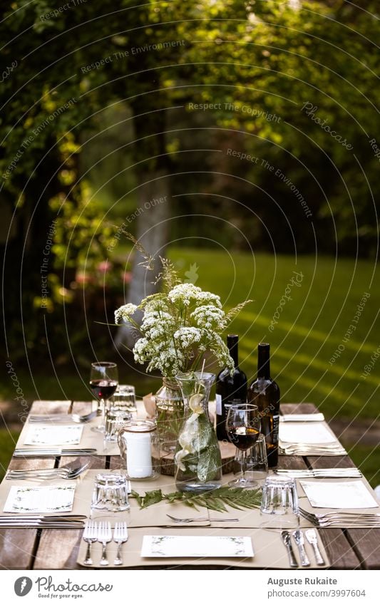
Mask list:
[[[138,306],[125,304],[115,311],[116,324],[132,324],[141,334],[133,348],[135,361],[148,362],[148,372],[159,370],[173,378],[197,369],[205,352],[211,351],[220,366],[232,370],[234,363],[220,335],[245,303],[225,314],[219,296],[194,284],[178,283],[166,259],[163,269],[163,292],[147,296]],[[133,319],[138,310],[143,311],[140,326]]]

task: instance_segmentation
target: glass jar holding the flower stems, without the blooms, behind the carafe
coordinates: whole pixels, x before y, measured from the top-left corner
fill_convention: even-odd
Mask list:
[[[155,394],[155,420],[160,450],[174,453],[185,417],[185,405],[178,383],[163,378],[163,386]]]

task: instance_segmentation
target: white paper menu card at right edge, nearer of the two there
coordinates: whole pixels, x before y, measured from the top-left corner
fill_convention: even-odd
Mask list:
[[[299,481],[310,504],[317,508],[377,508],[379,504],[361,481]]]

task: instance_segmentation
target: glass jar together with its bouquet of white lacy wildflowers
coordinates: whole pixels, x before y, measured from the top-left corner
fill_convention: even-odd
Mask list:
[[[249,301],[225,313],[219,296],[194,284],[181,283],[173,264],[168,259],[161,262],[162,290],[139,305],[121,306],[115,311],[115,323],[125,322],[138,330],[140,338],[133,347],[135,361],[148,363],[148,372],[158,370],[163,375],[163,386],[155,398],[158,435],[161,448],[174,453],[185,420],[183,393],[175,377],[196,371],[202,358],[210,354],[220,366],[233,370],[221,333]],[[143,312],[140,324],[133,317],[136,311]]]

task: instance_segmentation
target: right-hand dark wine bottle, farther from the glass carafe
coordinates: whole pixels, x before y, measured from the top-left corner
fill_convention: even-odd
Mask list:
[[[260,412],[261,433],[267,444],[269,468],[278,464],[279,387],[270,378],[269,344],[260,343],[257,360],[257,378],[248,389],[247,401],[257,405]]]

